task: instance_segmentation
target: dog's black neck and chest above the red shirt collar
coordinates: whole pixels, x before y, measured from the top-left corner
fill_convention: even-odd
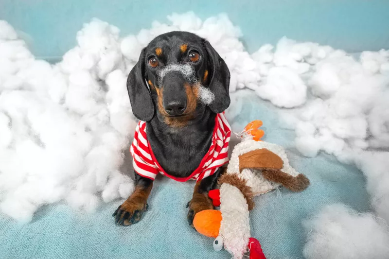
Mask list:
[[[204,107],[184,127],[169,126],[158,114],[147,122],[151,149],[166,173],[187,177],[195,171],[211,146],[215,117]]]

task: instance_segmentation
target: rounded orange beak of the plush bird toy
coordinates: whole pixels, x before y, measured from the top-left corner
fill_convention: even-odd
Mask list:
[[[219,235],[222,213],[216,209],[206,209],[197,212],[193,219],[193,225],[198,233],[209,238]]]

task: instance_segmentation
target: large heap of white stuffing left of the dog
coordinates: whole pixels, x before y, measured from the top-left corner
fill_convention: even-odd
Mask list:
[[[29,222],[61,200],[94,211],[128,197],[134,183],[119,169],[136,125],[125,88],[134,64],[119,30],[93,19],[56,65],[35,59],[8,23],[0,32],[1,211]]]

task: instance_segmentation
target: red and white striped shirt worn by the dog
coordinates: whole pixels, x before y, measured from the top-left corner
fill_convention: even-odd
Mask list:
[[[231,128],[224,116],[224,112],[216,114],[211,147],[201,160],[200,165],[188,177],[175,177],[166,173],[159,165],[147,140],[146,122],[139,121],[130,148],[132,164],[136,173],[152,180],[155,179],[158,173],[161,173],[179,182],[185,182],[189,179],[201,181],[228,162],[230,136]]]

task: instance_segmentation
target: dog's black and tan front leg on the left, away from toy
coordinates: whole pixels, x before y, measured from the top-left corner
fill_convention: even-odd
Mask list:
[[[153,180],[135,173],[135,190],[113,213],[115,224],[129,226],[141,220],[143,212],[148,210],[147,198],[153,188]]]

